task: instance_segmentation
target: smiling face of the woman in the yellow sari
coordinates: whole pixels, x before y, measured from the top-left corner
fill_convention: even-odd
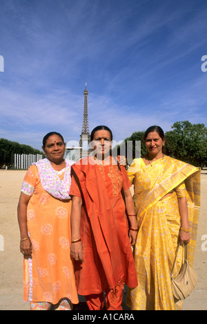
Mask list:
[[[157,156],[157,154],[160,154],[162,152],[165,140],[161,139],[159,134],[155,131],[148,134],[145,143],[149,154]]]

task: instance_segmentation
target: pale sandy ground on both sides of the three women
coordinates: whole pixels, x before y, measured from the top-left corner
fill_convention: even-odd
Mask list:
[[[23,303],[22,254],[19,252],[17,203],[26,171],[0,170],[0,310],[29,310]],[[198,283],[183,310],[207,310],[207,172],[201,172],[201,212],[194,269]],[[3,244],[4,243],[4,244]]]

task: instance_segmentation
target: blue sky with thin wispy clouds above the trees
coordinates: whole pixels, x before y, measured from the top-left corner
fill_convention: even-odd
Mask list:
[[[90,132],[117,142],[207,126],[206,17],[206,0],[0,0],[0,138],[79,141],[86,82]]]

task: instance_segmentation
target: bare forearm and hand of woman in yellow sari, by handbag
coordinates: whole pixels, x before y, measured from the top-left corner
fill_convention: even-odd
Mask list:
[[[177,198],[178,201],[178,206],[179,206],[179,214],[181,218],[181,227],[184,230],[189,230],[189,225],[188,225],[188,205],[186,201],[186,197],[179,197]],[[190,233],[186,232],[184,230],[181,230],[179,232],[179,240],[181,244],[183,243],[189,243],[190,242]]]

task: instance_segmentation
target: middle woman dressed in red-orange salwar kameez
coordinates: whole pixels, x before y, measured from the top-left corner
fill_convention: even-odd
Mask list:
[[[137,286],[131,250],[137,236],[131,183],[125,168],[119,170],[110,156],[110,129],[97,126],[91,141],[92,156],[72,165],[71,254],[77,292],[86,296],[90,310],[103,310],[103,291],[107,310],[122,310],[124,283]]]

